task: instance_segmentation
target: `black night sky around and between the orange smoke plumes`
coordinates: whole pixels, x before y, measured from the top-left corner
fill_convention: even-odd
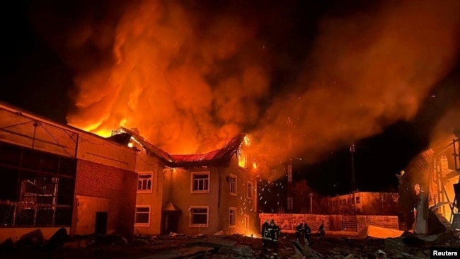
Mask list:
[[[82,91],[81,86],[78,86],[74,80],[76,76],[80,76],[82,71],[86,73],[91,69],[97,70],[96,68],[103,67],[103,64],[111,61],[107,59],[110,51],[104,48],[84,45],[84,47],[79,48],[79,51],[67,50],[64,47],[66,45],[65,40],[71,36],[66,33],[78,27],[79,21],[87,18],[88,13],[92,17],[92,23],[105,21],[108,30],[110,30],[110,26],[119,23],[123,10],[128,7],[115,6],[113,2],[117,1],[29,0],[13,2],[14,4],[9,3],[9,6],[2,8],[0,16],[2,32],[0,100],[30,110],[33,113],[50,117],[58,122],[67,123],[67,115],[78,110],[74,105],[74,96],[78,96]],[[93,2],[97,4],[92,4]],[[324,37],[322,33],[318,33],[318,28],[325,26],[320,23],[322,18],[326,16],[332,16],[338,20],[343,18],[344,23],[346,23],[350,16],[354,18],[372,16],[372,13],[381,8],[379,1],[197,2],[200,4],[185,4],[184,9],[190,9],[202,16],[212,13],[213,17],[217,17],[220,13],[224,13],[229,17],[241,17],[243,21],[248,20],[257,23],[255,35],[258,40],[263,42],[261,45],[263,45],[264,51],[270,51],[270,54],[264,54],[265,59],[260,60],[275,64],[269,69],[271,80],[268,88],[265,88],[265,92],[268,94],[263,98],[255,99],[255,103],[260,106],[258,114],[255,115],[257,118],[268,114],[269,107],[274,103],[277,96],[300,91],[301,88],[292,87],[292,85],[299,81],[309,80],[309,76],[304,76],[305,69],[314,70],[321,66],[319,64],[321,62],[311,61],[312,59],[309,57],[318,53],[315,52],[318,50],[315,47],[316,42],[318,42],[318,38]],[[280,4],[280,2],[284,4]],[[395,4],[397,1],[388,2]],[[456,7],[459,7],[458,4]],[[106,15],[105,12],[110,12],[110,16]],[[49,16],[56,16],[57,18],[48,18]],[[414,15],[414,17],[416,16]],[[356,18],[353,21],[359,23],[360,19]],[[52,30],[47,30],[50,28],[48,24],[50,21],[54,23],[54,27],[51,26]],[[335,24],[336,21],[332,21],[330,23]],[[453,39],[456,39],[457,42],[452,44],[452,52],[443,53],[450,57],[449,66],[442,73],[439,73],[441,76],[430,81],[432,82],[430,86],[423,88],[426,93],[421,95],[420,105],[418,105],[414,115],[381,116],[379,117],[379,125],[383,127],[381,131],[376,130],[375,134],[363,136],[353,134],[355,137],[340,139],[340,142],[335,142],[334,146],[330,146],[330,150],[325,149],[326,155],[321,156],[321,159],[316,159],[314,163],[306,162],[309,161],[308,159],[295,160],[294,179],[306,178],[311,188],[324,195],[350,192],[351,155],[348,144],[355,142],[357,188],[364,191],[396,190],[397,179],[394,175],[403,170],[410,159],[430,145],[430,136],[439,120],[447,111],[459,105],[458,43],[460,27],[458,19],[452,23],[456,24],[456,27],[453,26],[456,28]],[[424,24],[420,25],[422,32],[423,26]],[[197,28],[200,26],[197,25]],[[367,31],[367,28],[363,26],[362,30]],[[455,32],[455,30],[453,31]],[[359,35],[357,38],[360,37]],[[363,35],[366,34],[363,33]],[[329,37],[328,34],[326,37]],[[432,35],[427,33],[426,37],[430,38]],[[342,41],[346,39],[346,37],[338,37],[335,44],[341,45],[345,43]],[[366,44],[367,40],[369,39],[362,39],[357,41],[357,44]],[[331,43],[328,42],[328,44]],[[359,48],[358,46],[358,51]],[[434,48],[439,49],[436,46]],[[340,47],[334,47],[332,50],[340,51]],[[349,49],[345,47],[344,51],[347,50]],[[252,50],[245,51],[252,52]],[[429,48],[426,50],[426,52],[435,51],[437,50]],[[435,55],[435,57],[437,56]],[[258,59],[258,56],[255,55],[253,59]],[[232,60],[226,59],[217,64],[224,70],[228,68],[226,71],[236,69],[232,67]],[[251,59],[248,62],[251,62]],[[420,67],[423,68],[427,66],[423,63],[420,64]],[[363,66],[362,69],[367,69],[367,67]],[[210,82],[217,82],[222,78],[219,73],[222,74],[223,72],[213,72],[213,76],[209,76],[207,79]],[[355,90],[356,88],[350,88],[347,94],[354,96]],[[414,91],[418,91],[418,88],[415,88]],[[338,102],[335,96],[330,96],[324,105],[334,105],[335,102]],[[298,120],[303,120],[302,116],[299,116]],[[311,123],[314,124],[315,122],[312,121]],[[355,122],[350,119],[350,123]],[[240,126],[241,129],[248,130],[256,128],[257,123],[241,122]],[[330,125],[330,127],[335,126]],[[294,142],[296,141],[295,138],[294,136]],[[302,157],[309,150],[299,151],[298,156]]]

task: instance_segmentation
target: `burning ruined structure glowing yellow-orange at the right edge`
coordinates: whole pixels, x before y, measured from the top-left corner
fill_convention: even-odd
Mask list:
[[[459,211],[454,192],[454,184],[460,180],[459,136],[440,143],[420,153],[397,175],[401,210],[409,212],[416,207],[414,231],[418,234],[432,232],[430,222],[435,214],[446,223]]]

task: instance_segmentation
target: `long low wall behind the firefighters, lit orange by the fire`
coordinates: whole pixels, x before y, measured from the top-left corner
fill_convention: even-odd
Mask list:
[[[296,226],[305,221],[312,231],[319,228],[324,221],[326,231],[360,232],[366,226],[381,226],[387,229],[399,229],[398,216],[376,215],[316,215],[316,214],[259,214],[260,224],[265,219],[274,219],[280,229],[295,230]]]

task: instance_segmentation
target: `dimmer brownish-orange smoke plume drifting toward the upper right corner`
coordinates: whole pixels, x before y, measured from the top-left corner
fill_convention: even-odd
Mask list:
[[[265,134],[261,148],[286,142],[287,117],[294,119],[293,149],[306,161],[414,117],[456,62],[460,3],[385,4],[323,19],[297,92],[277,99],[267,113],[276,123],[262,129],[280,134]]]

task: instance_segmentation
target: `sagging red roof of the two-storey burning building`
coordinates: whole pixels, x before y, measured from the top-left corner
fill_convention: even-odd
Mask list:
[[[239,146],[246,137],[246,134],[237,134],[226,142],[220,149],[209,151],[203,154],[168,154],[158,146],[146,141],[139,133],[131,129],[122,127],[122,130],[134,137],[139,144],[146,150],[149,156],[156,156],[161,159],[166,166],[173,168],[188,168],[195,166],[228,166],[231,156],[238,151]]]

